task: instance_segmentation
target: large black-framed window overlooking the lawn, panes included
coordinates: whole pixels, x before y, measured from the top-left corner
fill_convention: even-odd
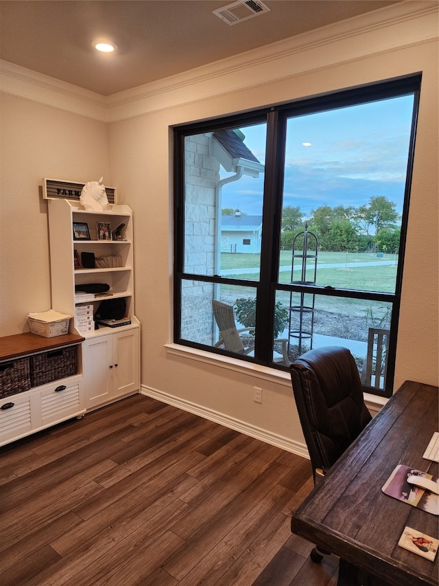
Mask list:
[[[175,128],[176,343],[283,370],[345,346],[390,396],[419,90]]]

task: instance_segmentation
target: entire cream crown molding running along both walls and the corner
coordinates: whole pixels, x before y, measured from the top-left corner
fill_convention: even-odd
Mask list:
[[[437,39],[438,0],[407,0],[109,96],[1,60],[0,90],[117,122]]]

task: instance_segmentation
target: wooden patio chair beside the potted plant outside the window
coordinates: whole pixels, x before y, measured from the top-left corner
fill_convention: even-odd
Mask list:
[[[212,300],[213,316],[215,322],[219,328],[219,341],[214,344],[215,348],[224,346],[225,350],[230,352],[236,352],[237,354],[252,354],[254,350],[254,343],[244,344],[244,340],[240,334],[248,333],[251,335],[254,332],[254,328],[240,328],[237,329],[235,324],[235,315],[233,313],[233,306],[226,303],[222,303],[215,299]],[[289,365],[288,351],[287,351],[287,339],[275,339],[275,342],[281,343],[282,354],[273,352],[273,361],[276,363],[285,363]]]

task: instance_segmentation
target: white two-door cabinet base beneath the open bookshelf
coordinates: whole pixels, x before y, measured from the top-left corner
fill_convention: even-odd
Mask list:
[[[139,328],[119,330],[83,343],[87,409],[139,390]]]

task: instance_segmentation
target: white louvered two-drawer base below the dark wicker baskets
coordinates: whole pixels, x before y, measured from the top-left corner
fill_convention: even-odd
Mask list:
[[[0,446],[85,412],[81,375],[0,400]]]

